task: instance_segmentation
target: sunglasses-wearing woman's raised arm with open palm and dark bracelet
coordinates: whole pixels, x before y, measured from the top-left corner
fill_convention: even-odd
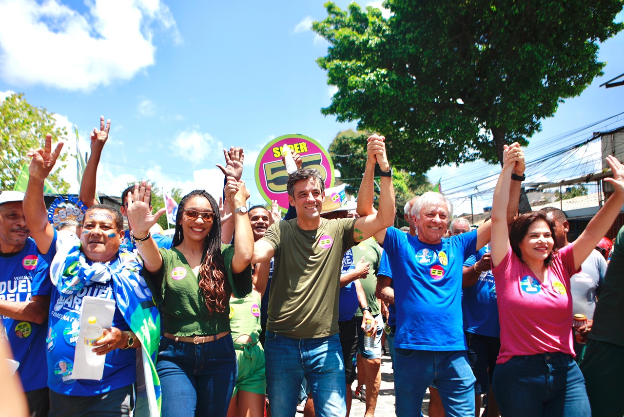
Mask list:
[[[152,239],[149,230],[158,221],[158,218],[167,211],[167,208],[163,207],[156,214],[152,214],[150,212],[151,195],[152,185],[149,183],[142,181],[140,186],[135,185],[134,193],[128,193],[126,213],[128,222],[132,224],[132,234],[137,239],[137,250],[143,259],[143,267],[149,272],[158,272],[162,267],[162,255],[158,251],[156,241]]]

